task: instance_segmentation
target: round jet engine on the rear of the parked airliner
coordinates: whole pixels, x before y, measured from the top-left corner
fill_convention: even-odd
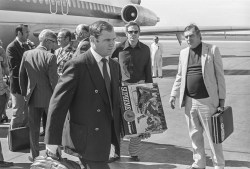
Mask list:
[[[153,11],[137,4],[126,5],[121,17],[125,23],[135,21],[141,26],[154,26],[160,20]]]

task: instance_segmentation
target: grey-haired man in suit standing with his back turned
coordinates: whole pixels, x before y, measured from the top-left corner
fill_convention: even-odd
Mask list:
[[[39,46],[25,52],[20,65],[20,88],[28,105],[31,161],[39,156],[41,117],[48,112],[49,100],[58,80],[56,56],[50,52],[56,38],[51,30],[43,30],[39,34]]]

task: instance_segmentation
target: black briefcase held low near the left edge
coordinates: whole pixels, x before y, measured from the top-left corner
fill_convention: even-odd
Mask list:
[[[30,148],[29,127],[9,129],[8,143],[10,151],[13,152]]]

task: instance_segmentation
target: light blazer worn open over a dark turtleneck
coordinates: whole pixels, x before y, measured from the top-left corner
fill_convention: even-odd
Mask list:
[[[179,93],[179,105],[185,106],[185,85],[188,66],[189,47],[181,50],[179,57],[178,72],[171,91],[171,96],[176,97]],[[226,85],[223,64],[218,47],[202,42],[201,54],[202,76],[204,83],[215,107],[219,106],[219,99],[226,98]]]

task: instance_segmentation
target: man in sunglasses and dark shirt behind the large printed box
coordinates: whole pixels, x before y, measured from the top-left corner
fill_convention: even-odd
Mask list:
[[[123,85],[152,83],[150,49],[139,41],[140,26],[136,22],[125,25],[127,40],[117,46],[112,58],[117,58],[121,67]],[[141,138],[150,134],[133,137],[129,143],[129,154],[132,161],[140,161],[138,155]]]

